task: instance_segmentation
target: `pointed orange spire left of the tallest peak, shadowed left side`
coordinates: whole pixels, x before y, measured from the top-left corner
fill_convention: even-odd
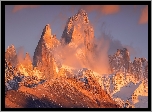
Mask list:
[[[59,45],[55,35],[51,34],[50,25],[43,29],[42,36],[38,42],[33,56],[33,66],[37,67],[44,77],[50,79],[56,73],[55,59],[52,50]]]

